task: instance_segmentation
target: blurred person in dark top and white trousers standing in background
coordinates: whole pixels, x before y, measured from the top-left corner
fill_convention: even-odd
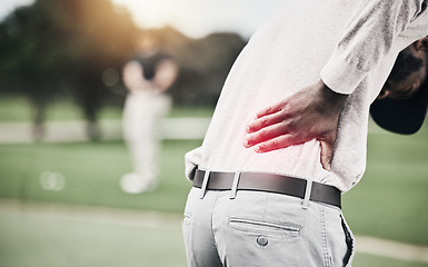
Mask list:
[[[137,57],[123,67],[128,95],[123,109],[123,138],[130,150],[133,172],[120,179],[123,191],[139,194],[158,185],[159,126],[171,99],[163,93],[177,77],[177,66],[163,53],[156,37],[141,33]]]

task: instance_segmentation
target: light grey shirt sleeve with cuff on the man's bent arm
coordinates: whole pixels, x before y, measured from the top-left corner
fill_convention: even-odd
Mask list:
[[[422,4],[422,0],[361,1],[320,72],[325,83],[336,92],[351,93],[366,73],[391,52],[396,38],[424,11]]]

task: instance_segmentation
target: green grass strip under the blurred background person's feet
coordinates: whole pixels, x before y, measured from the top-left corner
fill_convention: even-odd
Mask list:
[[[183,155],[199,144],[166,141],[159,189],[137,196],[119,188],[132,168],[123,142],[1,145],[0,197],[180,212],[191,187]],[[64,189],[44,190],[43,171],[62,174]]]

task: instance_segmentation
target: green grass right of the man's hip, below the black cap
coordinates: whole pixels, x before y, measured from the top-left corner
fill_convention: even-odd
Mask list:
[[[370,135],[367,171],[344,196],[357,234],[428,245],[428,131]]]

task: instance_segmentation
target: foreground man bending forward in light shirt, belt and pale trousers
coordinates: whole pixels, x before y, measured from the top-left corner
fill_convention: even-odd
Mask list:
[[[420,88],[424,71],[385,82],[402,50],[426,69],[427,34],[426,0],[292,0],[261,27],[186,155],[188,265],[350,266],[340,198],[366,168],[370,105]]]

